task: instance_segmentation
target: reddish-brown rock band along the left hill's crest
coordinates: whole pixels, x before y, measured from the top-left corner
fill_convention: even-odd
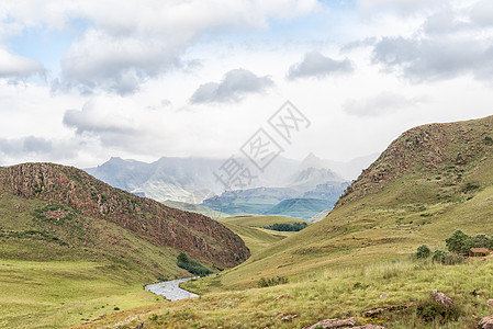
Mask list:
[[[156,246],[219,266],[234,266],[250,254],[245,242],[216,220],[114,189],[77,168],[53,163],[0,168],[2,190],[68,205],[83,215],[115,223]]]

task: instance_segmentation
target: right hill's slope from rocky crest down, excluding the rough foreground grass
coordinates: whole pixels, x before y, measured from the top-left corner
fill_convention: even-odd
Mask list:
[[[493,116],[413,128],[346,190],[323,220],[222,274],[226,287],[408,257],[456,229],[493,235]]]

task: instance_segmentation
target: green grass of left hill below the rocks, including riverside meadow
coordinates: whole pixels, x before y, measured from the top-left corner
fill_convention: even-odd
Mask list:
[[[64,237],[60,240],[71,240],[70,247],[51,236],[25,234],[44,230],[33,216],[44,206],[38,200],[0,194],[0,327],[61,328],[114,307],[149,305],[163,300],[143,290],[157,280],[155,271],[170,279],[189,275],[177,269],[176,250],[156,247],[108,222],[92,223],[99,235],[87,247],[83,239],[74,246],[77,226],[51,230]],[[134,259],[155,266],[136,266]]]

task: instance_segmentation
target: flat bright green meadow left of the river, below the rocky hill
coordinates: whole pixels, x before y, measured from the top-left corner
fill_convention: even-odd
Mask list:
[[[0,327],[64,328],[163,300],[136,277],[110,263],[0,260]]]

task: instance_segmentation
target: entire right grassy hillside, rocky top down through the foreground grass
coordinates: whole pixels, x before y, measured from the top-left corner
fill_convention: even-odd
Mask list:
[[[410,254],[422,243],[444,249],[456,229],[493,235],[492,128],[493,116],[404,133],[325,219],[195,282],[194,292],[206,293],[198,299],[132,315],[149,328],[301,328],[348,316],[386,328],[477,327],[491,315],[493,259],[438,265]],[[289,283],[257,287],[279,275]],[[424,319],[418,309],[434,288],[455,299],[457,319]],[[363,313],[380,306],[396,308],[374,318]]]

